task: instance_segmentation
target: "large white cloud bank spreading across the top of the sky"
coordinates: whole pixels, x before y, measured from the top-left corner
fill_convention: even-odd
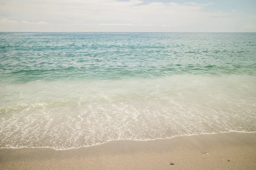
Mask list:
[[[28,0],[22,2],[13,0],[13,3],[8,6],[0,5],[0,11],[17,15],[20,20],[26,18],[26,20],[50,21],[54,18],[66,24],[70,21],[81,23],[83,20],[90,20],[91,23],[121,21],[133,25],[157,25],[166,23],[166,20],[168,23],[170,20],[184,20],[185,22],[188,20],[188,14],[195,19],[200,19],[199,16],[207,17],[207,13],[201,10],[209,5],[209,3],[149,3],[136,6],[141,3],[143,3],[142,0],[125,2],[119,0],[41,0],[39,6]],[[20,8],[20,5],[23,8]],[[175,17],[171,17],[173,15]]]

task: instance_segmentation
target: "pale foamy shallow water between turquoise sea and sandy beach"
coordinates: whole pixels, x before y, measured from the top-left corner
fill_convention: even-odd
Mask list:
[[[245,75],[10,84],[0,90],[0,147],[255,132],[255,84]]]

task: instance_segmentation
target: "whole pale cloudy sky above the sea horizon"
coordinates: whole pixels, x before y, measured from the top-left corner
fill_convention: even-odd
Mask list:
[[[0,31],[256,32],[256,0],[0,0]]]

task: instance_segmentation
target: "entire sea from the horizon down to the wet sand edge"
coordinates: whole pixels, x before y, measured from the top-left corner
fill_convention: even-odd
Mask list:
[[[255,33],[0,33],[0,147],[256,131]]]

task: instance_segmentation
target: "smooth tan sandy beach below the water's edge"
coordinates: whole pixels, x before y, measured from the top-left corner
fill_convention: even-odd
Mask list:
[[[69,150],[0,149],[0,170],[256,170],[256,133],[113,141]]]

